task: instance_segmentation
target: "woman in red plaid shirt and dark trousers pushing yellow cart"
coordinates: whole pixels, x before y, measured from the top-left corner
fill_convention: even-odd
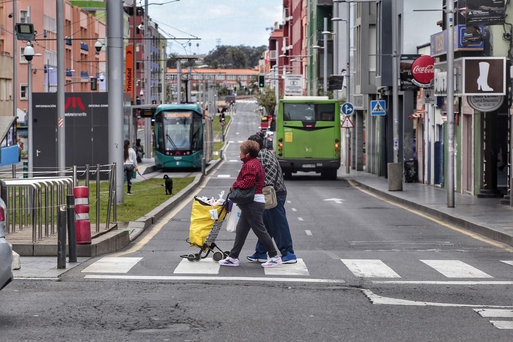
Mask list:
[[[259,241],[265,246],[269,253],[269,260],[262,264],[262,267],[275,267],[282,263],[282,258],[274,248],[271,236],[267,232],[262,220],[262,213],[265,208],[265,198],[262,194],[264,187],[264,169],[257,158],[260,145],[252,140],[246,140],[241,144],[241,160],[244,163],[232,184],[232,189],[250,189],[257,185],[253,202],[239,204],[241,217],[235,230],[235,242],[226,259],[219,261],[221,266],[239,266],[239,254],[246,242],[249,230],[252,229]]]

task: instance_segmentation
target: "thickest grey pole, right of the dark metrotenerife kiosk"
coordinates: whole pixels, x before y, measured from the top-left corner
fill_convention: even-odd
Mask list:
[[[61,0],[62,1],[62,0]],[[124,203],[123,192],[123,2],[107,1],[108,150],[109,163],[116,163],[116,200]],[[59,64],[62,66],[64,64]],[[60,67],[58,70],[63,70]]]

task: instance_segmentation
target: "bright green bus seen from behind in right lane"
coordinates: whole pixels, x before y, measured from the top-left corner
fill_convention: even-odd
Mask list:
[[[336,179],[340,168],[340,105],[327,96],[280,100],[274,137],[275,154],[286,178],[317,172]]]

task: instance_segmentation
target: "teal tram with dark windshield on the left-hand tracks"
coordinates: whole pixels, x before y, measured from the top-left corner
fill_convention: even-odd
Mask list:
[[[201,169],[212,160],[212,117],[198,105],[165,104],[153,115],[155,166],[164,170]]]

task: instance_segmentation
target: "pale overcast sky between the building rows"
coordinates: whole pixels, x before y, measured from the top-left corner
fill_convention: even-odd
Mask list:
[[[169,1],[148,0],[148,4]],[[149,5],[148,13],[175,37],[190,38],[192,34],[201,38],[190,41],[190,47],[188,41],[168,41],[172,43],[169,52],[185,54],[181,45],[184,44],[187,53],[208,53],[215,48],[216,39],[221,39],[221,45],[267,45],[271,31],[265,28],[281,22],[282,3],[282,0],[180,0]],[[144,6],[144,0],[137,5]]]

